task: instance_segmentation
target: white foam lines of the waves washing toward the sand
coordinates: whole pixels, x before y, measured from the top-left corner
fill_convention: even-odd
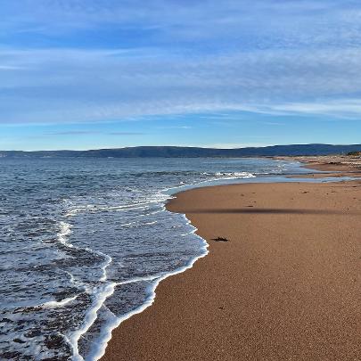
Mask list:
[[[217,172],[217,173],[213,173],[213,176],[215,176],[215,178],[213,178],[213,179],[225,179],[225,180],[226,179],[235,179],[235,178],[243,178],[244,179],[244,178],[255,177],[253,174],[251,174],[249,172]],[[208,181],[206,181],[204,183],[207,183]],[[210,179],[210,181],[211,181],[211,179]],[[198,185],[201,185],[202,183],[203,182],[199,182]],[[184,186],[187,186],[184,184],[185,184],[184,182],[181,182],[181,185],[175,187],[174,189],[181,191]],[[195,184],[195,185],[197,185],[197,184]],[[190,186],[192,186],[192,185],[190,185]],[[174,197],[169,196],[164,191],[167,191],[167,190],[163,190],[162,192],[160,192],[158,194],[153,194],[152,199],[148,199],[147,201],[140,201],[137,203],[135,202],[132,205],[109,206],[109,207],[87,205],[86,207],[81,208],[81,209],[71,209],[70,212],[68,212],[66,216],[71,217],[71,216],[75,216],[78,212],[88,212],[88,211],[97,212],[97,211],[119,211],[119,210],[125,211],[125,210],[130,210],[130,209],[146,209],[150,203],[160,204],[161,208],[162,208],[161,210],[148,212],[146,215],[144,215],[144,216],[147,216],[147,215],[149,216],[149,215],[156,214],[156,213],[167,210],[165,201],[167,201],[170,198],[174,198]],[[137,215],[137,216],[139,216],[139,215]],[[186,224],[188,226],[192,226],[190,221],[185,217],[185,215],[184,215],[184,218],[185,218]],[[127,226],[128,227],[129,226],[130,227],[132,227],[132,226],[152,226],[152,225],[155,225],[156,223],[158,223],[158,221],[152,221],[152,222],[135,221],[135,222],[125,223],[121,226],[126,226],[126,227]],[[193,230],[191,232],[188,232],[186,234],[180,234],[180,236],[195,234],[197,229],[193,226],[192,226],[192,228],[193,228]],[[60,237],[63,242],[65,242],[66,236],[69,235],[70,232],[71,232],[70,225],[66,224],[66,223],[62,223],[62,232],[60,234]],[[196,236],[198,238],[201,238],[198,235],[196,235]],[[119,326],[119,324],[121,324],[123,321],[127,320],[129,317],[139,314],[139,313],[143,312],[145,308],[150,307],[156,297],[156,288],[162,280],[168,278],[168,276],[177,275],[177,274],[185,272],[186,269],[193,267],[193,264],[199,258],[205,257],[208,254],[209,244],[204,239],[201,239],[201,240],[203,242],[203,248],[201,250],[201,255],[191,258],[189,260],[189,262],[185,265],[185,267],[178,268],[174,271],[168,272],[163,275],[150,275],[150,276],[137,277],[137,278],[135,277],[135,278],[131,278],[131,279],[126,280],[121,283],[116,283],[116,282],[105,283],[102,286],[95,288],[92,293],[92,297],[94,300],[93,300],[91,307],[86,312],[86,317],[85,317],[83,324],[78,328],[78,330],[76,332],[72,332],[71,335],[67,339],[71,346],[71,349],[73,351],[73,360],[80,361],[80,360],[84,359],[79,354],[78,341],[94,324],[94,322],[97,319],[98,311],[100,310],[100,308],[102,308],[102,306],[105,307],[105,305],[104,305],[105,300],[108,299],[109,297],[111,297],[111,295],[114,293],[115,288],[117,286],[122,285],[122,284],[144,282],[144,281],[150,282],[150,285],[147,289],[147,293],[149,295],[144,300],[143,304],[139,305],[134,310],[132,310],[122,316],[115,316],[114,314],[111,313],[111,311],[109,311],[111,316],[108,316],[107,323],[102,326],[102,329],[101,329],[101,332],[99,335],[99,340],[97,340],[96,342],[94,342],[92,344],[91,350],[90,350],[89,354],[86,356],[86,360],[94,361],[94,360],[98,360],[99,358],[103,357],[103,355],[105,354],[105,349],[108,345],[108,342],[109,342],[109,340],[111,340],[112,330],[117,328]],[[67,244],[70,246],[69,243],[67,243]],[[107,280],[106,268],[109,267],[109,265],[111,264],[111,257],[104,255],[103,253],[102,253],[102,255],[105,257],[105,260],[104,260],[104,263],[102,266],[103,276],[100,278],[99,281],[104,283]]]

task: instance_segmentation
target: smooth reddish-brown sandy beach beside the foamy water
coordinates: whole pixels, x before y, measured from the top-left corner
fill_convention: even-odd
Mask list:
[[[103,360],[361,358],[360,181],[204,187],[167,208],[209,255],[162,281]]]

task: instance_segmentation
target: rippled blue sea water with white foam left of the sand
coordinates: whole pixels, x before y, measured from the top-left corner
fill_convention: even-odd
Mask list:
[[[94,360],[152,303],[162,277],[206,254],[187,185],[305,173],[257,159],[0,159],[0,359]]]

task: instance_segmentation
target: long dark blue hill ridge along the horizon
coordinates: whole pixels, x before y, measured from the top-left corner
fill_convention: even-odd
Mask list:
[[[237,149],[176,147],[176,146],[140,146],[118,149],[97,149],[90,151],[0,151],[0,157],[12,158],[199,158],[199,157],[258,157],[258,156],[296,156],[330,155],[360,152],[361,144],[290,144],[270,145],[267,147],[249,147]]]

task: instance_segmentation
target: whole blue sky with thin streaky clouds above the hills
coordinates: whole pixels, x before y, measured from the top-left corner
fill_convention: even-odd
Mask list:
[[[0,0],[0,150],[361,143],[361,2]]]

